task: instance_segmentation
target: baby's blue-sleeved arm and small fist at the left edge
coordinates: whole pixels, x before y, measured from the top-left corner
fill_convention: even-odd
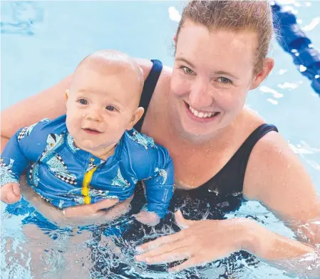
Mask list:
[[[19,201],[19,178],[29,163],[35,161],[34,158],[38,156],[36,151],[39,148],[35,134],[37,130],[41,130],[45,122],[46,120],[20,129],[6,144],[0,159],[1,201],[9,204]]]

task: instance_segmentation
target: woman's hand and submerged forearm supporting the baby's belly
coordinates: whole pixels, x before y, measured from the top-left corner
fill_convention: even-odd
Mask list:
[[[96,204],[72,206],[61,211],[44,199],[41,199],[26,183],[26,177],[21,177],[20,191],[21,194],[24,194],[24,198],[37,211],[58,226],[86,226],[107,223],[128,212],[130,210],[130,201],[133,199],[133,196],[131,196],[116,206],[114,205],[118,203],[118,199],[105,199]],[[103,209],[108,209],[111,206],[114,206],[113,209],[103,211]]]

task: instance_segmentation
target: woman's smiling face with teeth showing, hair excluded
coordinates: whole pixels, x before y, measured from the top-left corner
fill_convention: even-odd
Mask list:
[[[254,87],[251,31],[209,31],[185,21],[176,42],[170,111],[187,137],[207,138],[227,127],[242,111]]]

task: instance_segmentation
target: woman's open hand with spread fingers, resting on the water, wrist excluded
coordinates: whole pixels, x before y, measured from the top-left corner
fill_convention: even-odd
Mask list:
[[[246,237],[249,237],[250,234],[247,230],[251,221],[248,219],[188,221],[180,211],[175,213],[175,219],[182,231],[138,246],[137,251],[144,253],[135,256],[136,260],[170,263],[187,259],[169,270],[176,272],[241,250],[245,243],[242,236],[247,234]]]

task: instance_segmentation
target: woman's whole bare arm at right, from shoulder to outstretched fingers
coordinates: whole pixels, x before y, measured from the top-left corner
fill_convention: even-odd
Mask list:
[[[177,271],[245,250],[288,270],[318,276],[319,196],[303,165],[279,134],[270,132],[256,144],[244,183],[244,196],[262,201],[296,231],[301,241],[269,231],[249,219],[187,221],[178,212],[177,223],[185,229],[138,247],[145,253],[137,260],[169,263],[187,258],[172,268]]]

